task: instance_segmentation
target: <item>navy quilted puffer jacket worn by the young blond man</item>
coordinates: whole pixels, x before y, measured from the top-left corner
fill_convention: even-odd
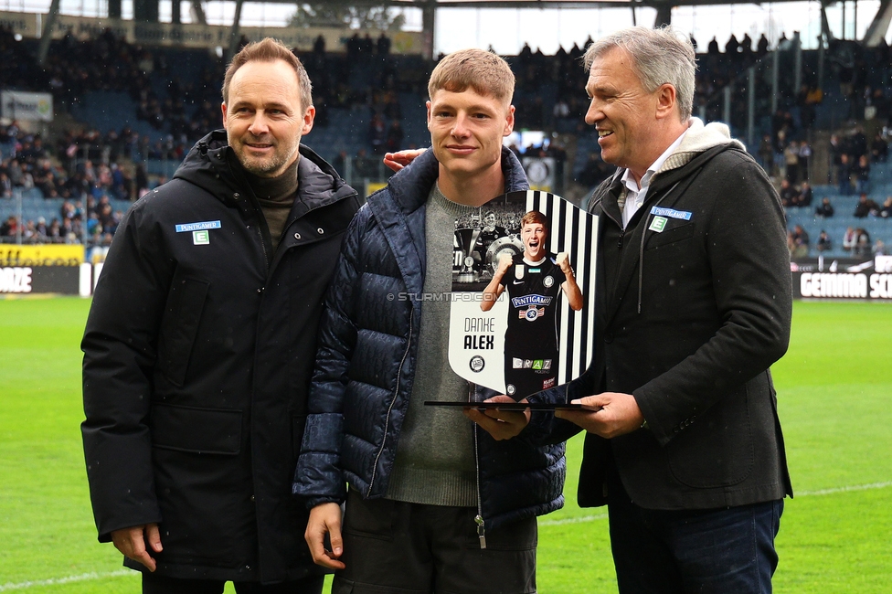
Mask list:
[[[506,191],[528,187],[510,151],[503,150],[502,168]],[[320,326],[294,479],[294,493],[308,506],[343,502],[345,482],[366,498],[387,493],[415,378],[422,305],[398,295],[424,285],[425,202],[438,171],[433,152],[425,152],[369,196],[347,231]],[[495,441],[476,426],[474,439],[486,528],[564,504],[563,444]]]

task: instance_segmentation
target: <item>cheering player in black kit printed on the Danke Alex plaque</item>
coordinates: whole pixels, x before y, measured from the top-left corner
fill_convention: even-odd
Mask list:
[[[558,313],[561,294],[574,311],[582,309],[582,292],[567,252],[548,253],[548,219],[531,210],[520,220],[524,253],[503,254],[493,280],[483,289],[480,309],[490,311],[508,292],[504,333],[505,394],[520,400],[558,385]]]

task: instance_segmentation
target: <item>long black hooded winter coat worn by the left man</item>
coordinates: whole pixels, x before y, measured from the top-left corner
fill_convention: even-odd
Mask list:
[[[324,291],[359,200],[300,153],[275,253],[218,131],[128,211],[96,287],[81,344],[93,513],[101,541],[159,523],[160,575],[321,573],[290,487]]]

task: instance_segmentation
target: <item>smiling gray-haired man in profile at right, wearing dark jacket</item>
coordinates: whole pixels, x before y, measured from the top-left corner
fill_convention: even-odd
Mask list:
[[[694,48],[625,29],[585,55],[586,122],[617,165],[589,200],[599,343],[566,389],[586,430],[579,504],[607,504],[620,592],[770,592],[792,495],[769,367],[787,349],[780,199],[727,126],[691,117]]]

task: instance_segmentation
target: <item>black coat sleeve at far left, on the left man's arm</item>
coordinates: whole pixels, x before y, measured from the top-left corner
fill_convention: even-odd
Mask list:
[[[113,530],[162,519],[148,419],[157,333],[173,266],[160,253],[159,238],[140,206],[115,234],[81,343],[86,414],[81,432],[103,542],[111,540]]]

